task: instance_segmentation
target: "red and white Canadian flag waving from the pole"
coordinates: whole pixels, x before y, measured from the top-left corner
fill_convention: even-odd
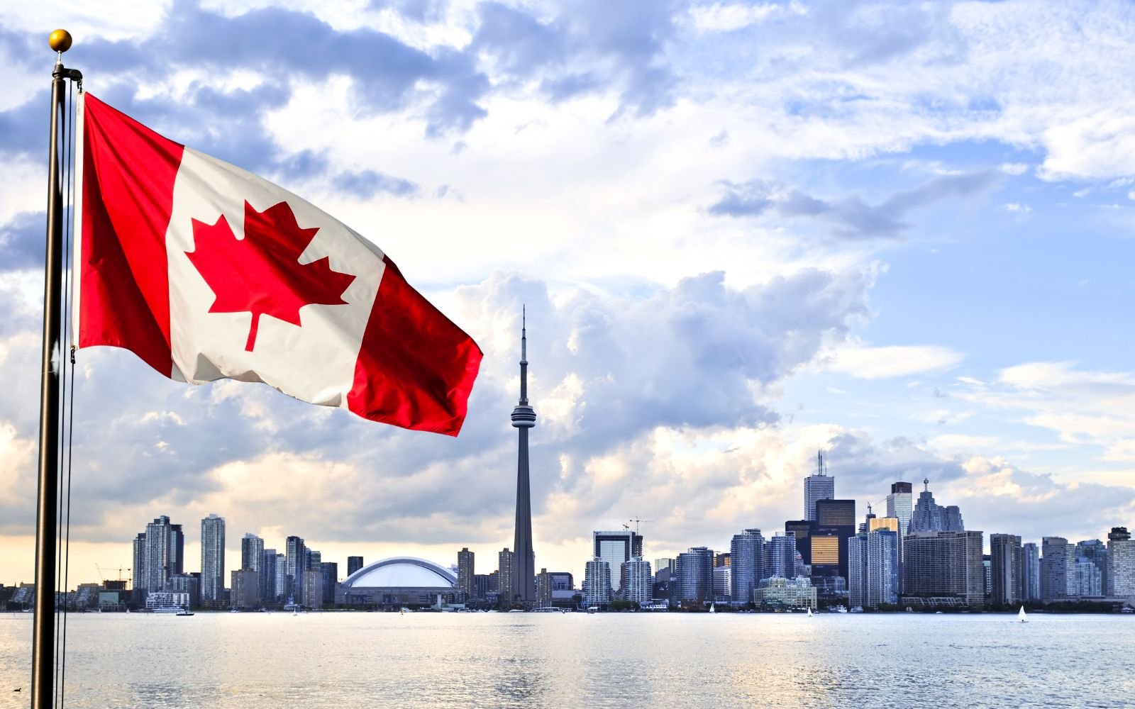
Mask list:
[[[91,94],[78,111],[79,347],[457,434],[481,351],[377,246]]]

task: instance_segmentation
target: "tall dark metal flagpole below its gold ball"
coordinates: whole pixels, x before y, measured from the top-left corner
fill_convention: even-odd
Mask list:
[[[48,157],[48,239],[43,275],[43,358],[40,372],[40,486],[35,520],[35,621],[32,635],[32,708],[47,709],[53,699],[52,647],[56,608],[56,531],[59,489],[59,347],[62,279],[64,194],[60,184],[60,120],[66,69],[51,73],[51,142]]]

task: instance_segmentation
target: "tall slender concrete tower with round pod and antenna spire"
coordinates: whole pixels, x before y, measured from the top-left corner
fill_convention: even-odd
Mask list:
[[[536,425],[536,412],[528,404],[528,329],[524,312],[520,326],[520,402],[512,410],[512,425],[518,429],[516,525],[513,537],[513,568],[510,585],[502,584],[501,596],[510,601],[536,602],[536,552],[532,550],[532,500],[528,482],[528,430]],[[502,577],[504,572],[502,571]],[[502,579],[503,580],[503,579]]]

